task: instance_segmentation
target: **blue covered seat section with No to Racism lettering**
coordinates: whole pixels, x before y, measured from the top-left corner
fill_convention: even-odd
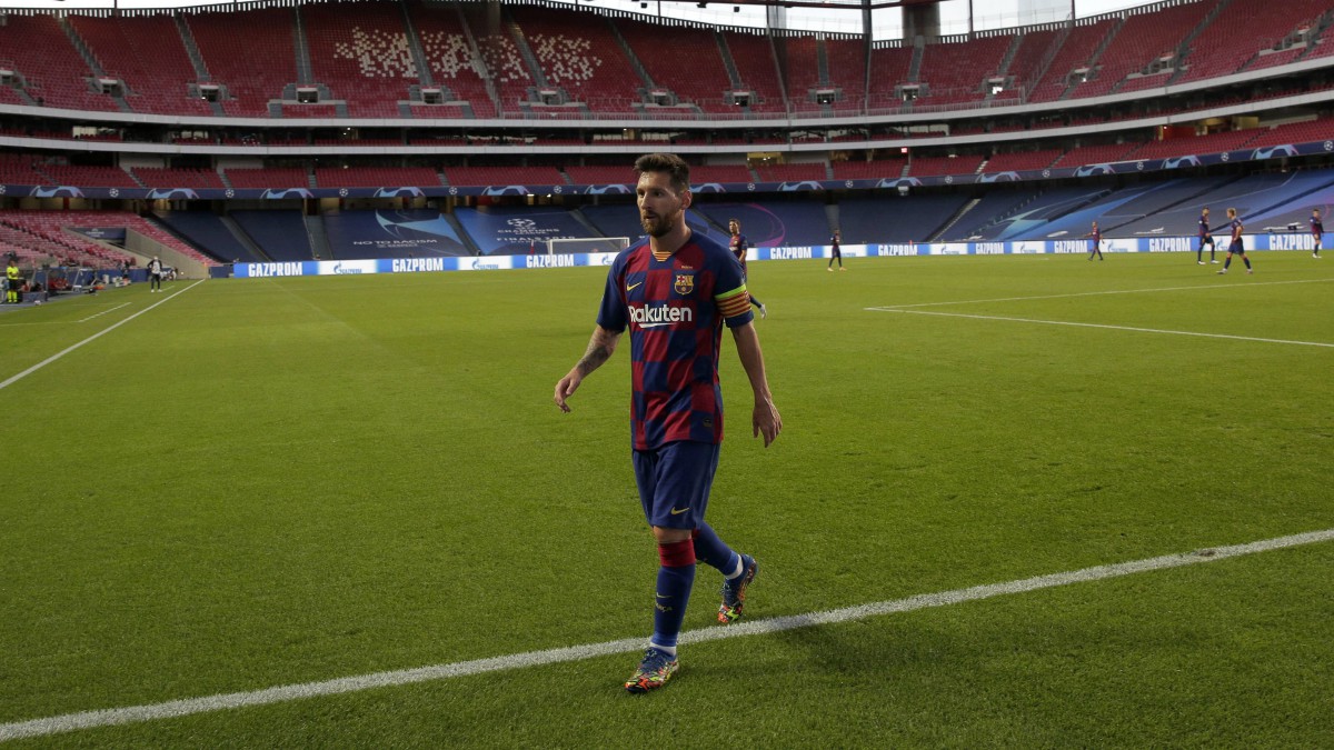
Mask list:
[[[323,219],[329,252],[342,260],[472,255],[454,224],[432,208],[339,211]]]

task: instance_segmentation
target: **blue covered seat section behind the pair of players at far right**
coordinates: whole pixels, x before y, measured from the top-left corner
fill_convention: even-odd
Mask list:
[[[1209,220],[1215,234],[1227,234],[1227,210],[1235,208],[1245,218],[1249,214],[1273,206],[1278,202],[1294,175],[1282,172],[1259,173],[1227,180],[1217,177],[1191,177],[1181,180],[1182,191],[1189,196],[1181,202],[1163,200],[1147,216],[1119,224],[1117,236],[1191,236],[1199,227],[1199,210],[1209,207]],[[1155,191],[1159,192],[1159,191]],[[1173,195],[1159,195],[1170,199]],[[1103,223],[1099,220],[1099,224]],[[1247,231],[1254,230],[1249,228]]]

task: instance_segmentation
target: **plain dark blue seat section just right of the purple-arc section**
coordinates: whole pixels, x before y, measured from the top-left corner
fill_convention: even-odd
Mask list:
[[[852,198],[839,203],[843,244],[926,242],[967,203],[966,195]]]

